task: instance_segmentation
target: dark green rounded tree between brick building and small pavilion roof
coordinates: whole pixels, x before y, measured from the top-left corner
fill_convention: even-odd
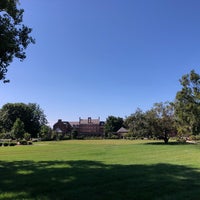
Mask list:
[[[106,135],[118,131],[123,126],[124,120],[121,117],[108,116],[104,126]]]

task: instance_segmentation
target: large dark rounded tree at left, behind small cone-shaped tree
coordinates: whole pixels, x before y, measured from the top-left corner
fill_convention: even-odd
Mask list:
[[[35,103],[7,103],[0,109],[1,131],[11,131],[15,121],[20,119],[24,123],[24,130],[37,137],[40,128],[47,124],[46,116],[39,105]]]

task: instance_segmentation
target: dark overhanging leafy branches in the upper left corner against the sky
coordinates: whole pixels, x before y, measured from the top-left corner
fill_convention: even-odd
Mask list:
[[[23,9],[18,9],[18,0],[0,1],[0,80],[6,80],[8,66],[14,58],[23,61],[26,58],[25,49],[30,43],[35,43],[30,36],[31,28],[23,22]]]

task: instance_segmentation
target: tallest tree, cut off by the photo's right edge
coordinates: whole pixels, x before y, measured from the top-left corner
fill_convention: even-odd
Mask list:
[[[175,115],[179,134],[200,134],[200,75],[192,70],[180,79],[182,89],[176,94]]]

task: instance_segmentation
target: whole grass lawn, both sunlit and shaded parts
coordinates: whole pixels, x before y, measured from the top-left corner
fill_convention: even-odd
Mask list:
[[[200,145],[126,140],[0,147],[0,199],[200,199]]]

